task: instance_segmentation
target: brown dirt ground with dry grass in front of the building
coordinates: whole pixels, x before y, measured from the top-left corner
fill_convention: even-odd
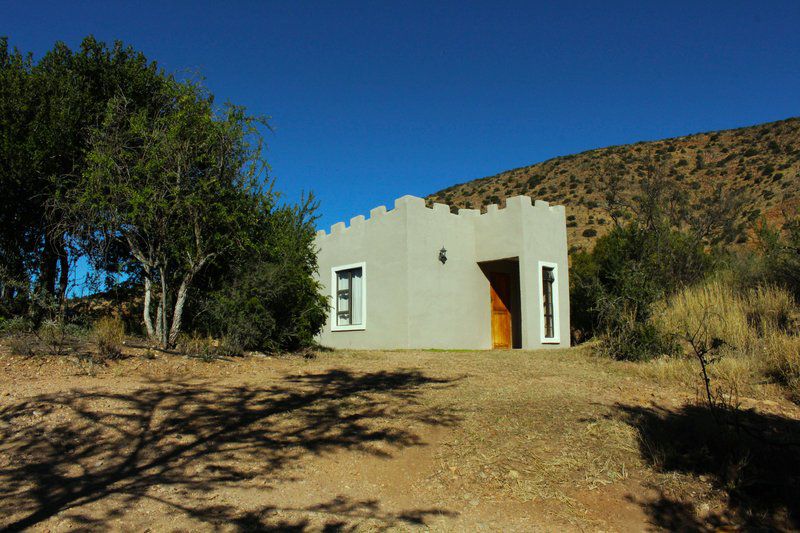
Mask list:
[[[742,402],[754,424],[800,433],[790,402]],[[585,349],[133,353],[105,366],[5,354],[0,529],[800,524],[797,451],[748,448],[747,464],[721,469],[707,415],[685,386]],[[755,484],[730,488],[753,468]]]

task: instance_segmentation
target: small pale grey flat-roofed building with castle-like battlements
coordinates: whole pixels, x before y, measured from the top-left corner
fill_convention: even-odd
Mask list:
[[[317,232],[331,348],[569,346],[563,206],[527,196],[450,212],[403,196]]]

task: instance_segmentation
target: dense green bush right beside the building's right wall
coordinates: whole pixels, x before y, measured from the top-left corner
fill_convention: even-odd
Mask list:
[[[573,328],[599,335],[601,351],[616,359],[674,354],[674,336],[651,321],[655,304],[702,279],[712,258],[691,235],[637,224],[615,227],[591,253],[573,255],[570,308]]]

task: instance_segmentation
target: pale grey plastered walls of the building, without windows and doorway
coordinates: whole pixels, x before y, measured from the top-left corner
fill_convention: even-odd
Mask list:
[[[319,336],[333,348],[491,348],[489,281],[479,263],[519,262],[522,348],[542,347],[539,261],[558,268],[560,344],[569,345],[569,283],[566,219],[562,206],[509,198],[487,212],[446,205],[425,207],[404,196],[391,211],[373,209],[370,218],[351,219],[320,231],[319,281],[331,294],[331,269],[366,263],[367,319],[363,331],[331,331],[330,318]],[[439,262],[439,250],[447,262]],[[332,315],[331,315],[332,316]],[[547,344],[546,346],[554,346]]]

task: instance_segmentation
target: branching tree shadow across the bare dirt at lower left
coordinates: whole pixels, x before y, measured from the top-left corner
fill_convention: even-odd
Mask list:
[[[229,489],[269,490],[292,479],[312,455],[358,450],[390,457],[392,450],[424,445],[410,429],[414,423],[449,426],[459,419],[420,401],[453,380],[416,370],[330,370],[276,383],[154,380],[130,392],[45,394],[2,409],[0,457],[8,460],[0,465],[0,517],[7,517],[0,528],[22,530],[59,513],[102,528],[145,500],[213,527],[243,530],[301,531],[309,523],[304,513],[330,515],[331,531],[354,520],[394,526],[447,514],[392,514],[377,501],[342,497],[293,510],[217,503]],[[283,511],[301,518],[276,522]]]

